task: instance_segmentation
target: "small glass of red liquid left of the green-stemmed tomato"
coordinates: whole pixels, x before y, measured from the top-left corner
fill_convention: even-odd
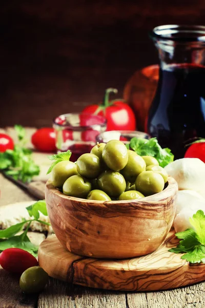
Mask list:
[[[90,113],[61,114],[54,119],[57,151],[71,150],[70,160],[75,162],[80,155],[91,151],[96,136],[106,130],[106,118]]]

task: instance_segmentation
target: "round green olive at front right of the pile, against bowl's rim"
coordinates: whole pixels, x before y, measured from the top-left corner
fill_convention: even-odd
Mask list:
[[[154,171],[141,172],[135,181],[136,190],[139,190],[145,196],[162,191],[164,186],[165,181],[162,176]]]

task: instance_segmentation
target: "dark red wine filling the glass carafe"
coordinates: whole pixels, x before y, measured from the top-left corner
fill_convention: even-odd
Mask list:
[[[160,69],[159,83],[148,117],[148,133],[175,159],[185,154],[185,142],[205,137],[205,67],[174,64]]]

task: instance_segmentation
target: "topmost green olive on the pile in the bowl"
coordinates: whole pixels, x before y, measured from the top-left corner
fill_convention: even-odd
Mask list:
[[[110,169],[119,171],[127,165],[128,150],[121,141],[110,140],[103,149],[102,157]]]

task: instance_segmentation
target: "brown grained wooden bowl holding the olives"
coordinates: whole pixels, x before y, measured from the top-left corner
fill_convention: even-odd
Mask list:
[[[46,204],[52,228],[68,251],[93,258],[131,258],[154,252],[174,220],[178,185],[139,200],[95,201],[64,195],[49,180]]]

